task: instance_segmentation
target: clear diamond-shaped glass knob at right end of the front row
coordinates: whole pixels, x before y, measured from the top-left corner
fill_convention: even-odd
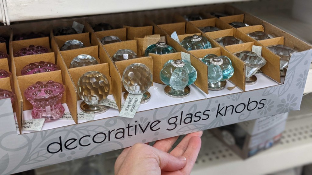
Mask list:
[[[280,56],[280,76],[285,77],[290,56],[291,54],[298,52],[298,50],[286,45],[273,45],[269,46],[268,49]]]

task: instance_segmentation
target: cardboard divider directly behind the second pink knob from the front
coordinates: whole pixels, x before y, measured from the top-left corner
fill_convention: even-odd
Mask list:
[[[21,76],[22,69],[30,63],[45,61],[55,64],[55,56],[54,53],[44,53],[44,54],[35,54],[35,55],[26,55],[20,57],[14,57],[14,64],[16,66],[16,75]],[[60,66],[58,66],[60,69]]]

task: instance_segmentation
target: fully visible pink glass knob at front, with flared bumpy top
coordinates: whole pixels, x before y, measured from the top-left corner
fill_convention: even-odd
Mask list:
[[[46,121],[59,119],[64,114],[61,98],[64,85],[54,81],[33,84],[24,92],[25,98],[32,104],[32,118],[45,118]]]

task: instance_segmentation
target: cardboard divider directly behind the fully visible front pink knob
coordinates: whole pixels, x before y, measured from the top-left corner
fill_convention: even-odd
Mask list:
[[[61,76],[61,70],[56,70],[53,72],[45,72],[45,73],[37,73],[37,74],[31,74],[31,75],[23,75],[17,77],[19,89],[22,93],[22,99],[23,99],[23,110],[30,110],[32,109],[32,104],[26,100],[24,96],[24,91],[27,87],[31,86],[32,84],[35,84],[38,81],[41,82],[47,82],[49,80],[52,80],[54,82],[63,83],[62,76]],[[66,92],[64,92],[64,95],[61,99],[61,103],[66,102]]]

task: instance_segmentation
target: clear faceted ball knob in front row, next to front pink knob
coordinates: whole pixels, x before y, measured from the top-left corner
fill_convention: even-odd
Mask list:
[[[78,80],[78,96],[83,100],[81,111],[87,114],[101,114],[109,107],[101,105],[109,95],[110,83],[106,76],[97,71],[83,74]]]

